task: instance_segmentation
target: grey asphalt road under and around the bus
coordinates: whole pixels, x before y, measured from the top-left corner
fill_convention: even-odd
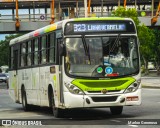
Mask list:
[[[5,85],[4,85],[5,86]],[[48,111],[48,108],[35,109],[30,112],[24,112],[20,104],[15,104],[8,95],[6,89],[0,89],[0,119],[48,119],[43,120],[43,124],[57,124],[54,127],[77,127],[87,128],[109,127],[143,127],[158,128],[158,125],[137,125],[129,124],[128,121],[152,121],[159,119],[160,123],[160,89],[142,89],[142,105],[124,107],[121,116],[113,116],[108,108],[99,109],[75,109],[65,113],[64,118],[55,119]],[[140,119],[140,120],[138,120]],[[146,120],[149,119],[149,120]],[[63,126],[62,126],[63,124]],[[97,124],[97,125],[95,125]],[[114,125],[113,125],[114,124]],[[125,124],[125,125],[124,125]],[[76,126],[75,126],[76,125]],[[80,126],[79,126],[80,125]],[[91,126],[93,125],[93,126]],[[52,125],[48,127],[53,127]],[[17,126],[12,126],[17,128]],[[21,126],[18,126],[21,127]]]

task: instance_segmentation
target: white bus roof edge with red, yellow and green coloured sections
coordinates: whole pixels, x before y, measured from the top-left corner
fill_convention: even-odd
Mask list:
[[[42,35],[44,33],[49,33],[49,32],[54,31],[56,29],[60,29],[60,28],[62,28],[62,26],[66,22],[69,22],[69,21],[92,21],[92,20],[132,20],[132,19],[121,18],[121,17],[89,17],[89,18],[66,19],[66,20],[58,21],[58,22],[51,24],[51,25],[47,25],[43,28],[40,28],[40,29],[37,29],[37,30],[32,31],[30,33],[24,34],[20,37],[14,38],[10,41],[10,45],[16,44],[18,42],[23,42],[25,40],[28,40],[29,38],[33,38],[33,37]]]

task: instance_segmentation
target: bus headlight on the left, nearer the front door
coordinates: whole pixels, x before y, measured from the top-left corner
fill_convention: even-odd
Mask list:
[[[73,94],[77,94],[77,95],[84,95],[84,92],[78,88],[77,86],[71,84],[71,83],[64,83],[64,85],[67,87],[67,89],[69,90],[69,92],[73,93]]]

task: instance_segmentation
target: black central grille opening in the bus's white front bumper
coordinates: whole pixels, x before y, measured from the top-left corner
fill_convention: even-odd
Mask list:
[[[108,97],[91,97],[94,102],[114,102],[117,100],[118,96],[108,96]]]

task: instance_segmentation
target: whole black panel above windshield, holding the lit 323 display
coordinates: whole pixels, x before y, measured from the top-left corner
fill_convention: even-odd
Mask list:
[[[71,21],[65,25],[65,35],[90,33],[136,33],[134,23],[129,20]]]

